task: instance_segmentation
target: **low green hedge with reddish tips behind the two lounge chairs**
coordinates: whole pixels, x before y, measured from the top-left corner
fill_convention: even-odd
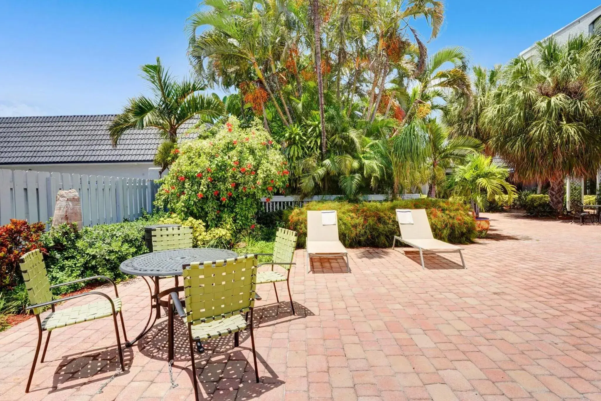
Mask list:
[[[475,221],[469,206],[432,198],[391,202],[311,202],[287,212],[290,230],[299,233],[297,245],[307,240],[307,210],[337,210],[338,234],[344,246],[356,248],[392,246],[398,235],[395,209],[426,209],[435,238],[451,243],[469,243],[475,237]]]

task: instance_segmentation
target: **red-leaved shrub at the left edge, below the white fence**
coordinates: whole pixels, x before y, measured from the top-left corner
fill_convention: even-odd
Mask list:
[[[20,275],[17,265],[23,254],[34,249],[46,252],[40,236],[44,223],[28,224],[26,220],[11,219],[0,227],[0,289],[16,286]]]

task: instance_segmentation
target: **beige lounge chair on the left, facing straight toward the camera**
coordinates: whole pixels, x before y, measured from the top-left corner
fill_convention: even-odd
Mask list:
[[[349,253],[338,239],[336,210],[307,211],[307,272],[311,271],[311,257],[346,256],[350,272]]]

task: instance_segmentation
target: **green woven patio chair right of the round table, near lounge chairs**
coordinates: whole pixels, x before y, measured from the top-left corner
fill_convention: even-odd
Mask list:
[[[292,314],[294,314],[294,304],[292,303],[292,293],[290,292],[290,269],[296,263],[292,263],[294,259],[294,249],[296,248],[296,240],[298,234],[296,231],[286,230],[285,228],[278,228],[278,232],[275,234],[275,243],[273,244],[272,254],[257,254],[257,256],[271,256],[272,262],[265,262],[258,265],[271,265],[271,271],[258,272],[257,273],[257,284],[273,283],[273,290],[275,290],[275,300],[279,304],[278,289],[275,283],[279,281],[285,281],[288,286],[288,296],[290,297],[290,308]],[[273,271],[273,265],[281,266],[285,269],[286,275],[280,272]]]

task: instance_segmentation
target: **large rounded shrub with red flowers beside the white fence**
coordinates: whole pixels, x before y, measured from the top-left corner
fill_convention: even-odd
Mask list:
[[[258,120],[241,128],[235,117],[213,138],[186,142],[162,179],[157,203],[209,228],[249,228],[260,198],[284,193],[288,165]]]

